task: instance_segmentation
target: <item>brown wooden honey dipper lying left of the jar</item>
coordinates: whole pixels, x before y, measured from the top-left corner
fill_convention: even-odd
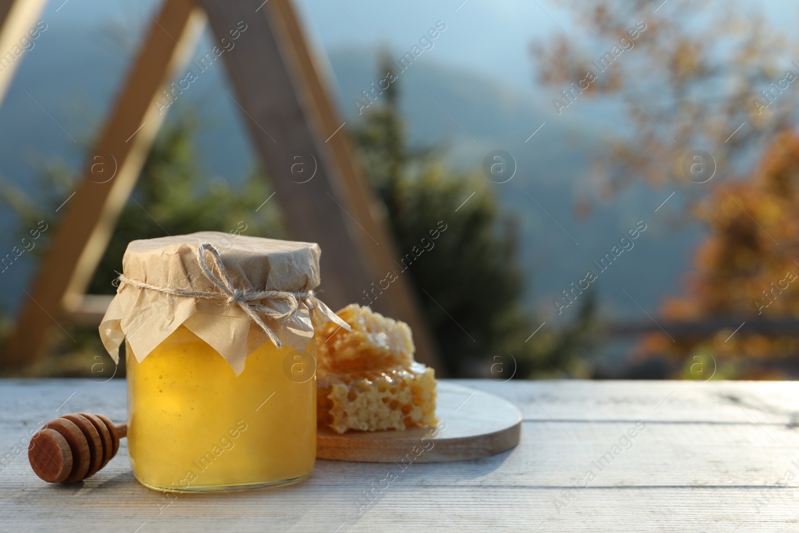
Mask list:
[[[127,435],[128,424],[114,424],[102,415],[64,415],[45,424],[30,440],[30,467],[48,483],[74,483],[105,467]]]

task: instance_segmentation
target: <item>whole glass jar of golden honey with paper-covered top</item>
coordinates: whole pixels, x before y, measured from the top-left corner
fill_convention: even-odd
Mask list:
[[[311,243],[211,232],[130,243],[101,337],[112,356],[125,340],[142,484],[222,491],[311,474],[313,323],[335,316],[311,292],[319,256]]]

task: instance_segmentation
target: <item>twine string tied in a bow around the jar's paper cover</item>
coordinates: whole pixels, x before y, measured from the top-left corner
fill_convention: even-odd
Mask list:
[[[206,253],[208,252],[208,253]],[[205,261],[206,255],[211,257],[211,265]],[[125,274],[120,274],[117,278],[124,284],[128,284],[135,288],[146,288],[151,291],[163,292],[173,296],[189,296],[193,298],[203,298],[205,300],[220,301],[225,307],[232,307],[237,305],[242,311],[247,313],[258,326],[266,333],[269,340],[272,341],[277,348],[283,348],[283,343],[277,338],[272,328],[264,322],[262,316],[271,320],[287,320],[295,315],[297,309],[300,308],[300,299],[305,299],[313,296],[313,291],[305,292],[289,292],[289,291],[245,291],[242,288],[237,288],[233,285],[233,280],[230,278],[225,263],[217,248],[209,242],[202,243],[197,248],[197,261],[209,277],[213,284],[217,286],[219,292],[206,292],[206,291],[193,291],[185,288],[171,288],[171,287],[158,287],[157,285],[147,284],[144,281],[132,280]],[[213,270],[216,268],[219,276],[214,274]],[[270,308],[261,303],[264,300],[282,300],[288,304],[288,311],[280,312],[276,309]],[[306,302],[309,308],[313,306]]]

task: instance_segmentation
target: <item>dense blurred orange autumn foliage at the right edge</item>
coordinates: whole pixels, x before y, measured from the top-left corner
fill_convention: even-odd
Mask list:
[[[797,336],[766,337],[745,328],[745,320],[799,319],[799,133],[773,137],[748,181],[727,181],[698,205],[695,215],[709,235],[698,247],[684,296],[667,299],[669,320],[729,317],[731,328],[711,339],[670,340],[646,336],[645,354],[680,358],[703,349],[727,365],[725,377],[785,377],[776,368],[799,352]],[[754,364],[745,364],[746,360]]]

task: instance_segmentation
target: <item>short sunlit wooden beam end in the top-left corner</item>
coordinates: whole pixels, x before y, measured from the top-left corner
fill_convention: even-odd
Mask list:
[[[0,103],[29,52],[25,50],[25,46],[30,46],[26,43],[31,42],[29,32],[36,30],[34,26],[45,4],[46,0],[0,0]]]

